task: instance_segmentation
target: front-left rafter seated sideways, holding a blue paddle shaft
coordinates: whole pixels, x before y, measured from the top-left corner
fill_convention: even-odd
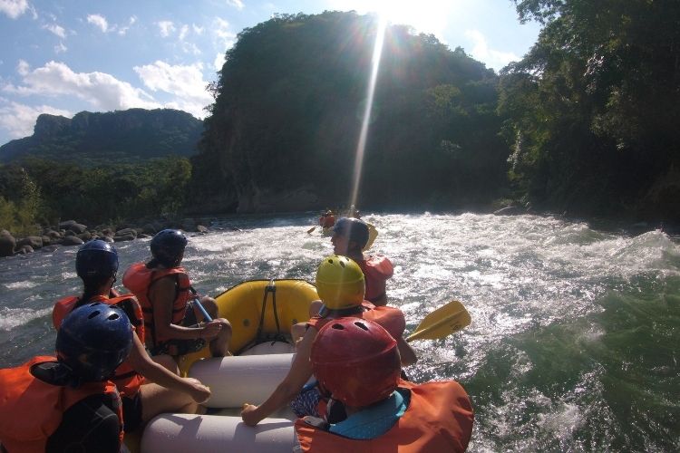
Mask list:
[[[203,296],[199,300],[189,275],[180,267],[187,243],[180,230],[160,231],[151,239],[153,259],[131,265],[122,277],[122,284],[140,300],[151,355],[197,352],[209,342],[212,356],[224,357],[228,355],[231,324],[217,317],[214,299]],[[199,320],[207,321],[199,304],[213,321],[199,324]]]

